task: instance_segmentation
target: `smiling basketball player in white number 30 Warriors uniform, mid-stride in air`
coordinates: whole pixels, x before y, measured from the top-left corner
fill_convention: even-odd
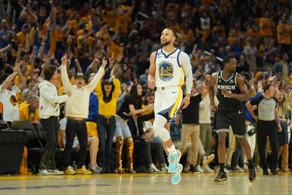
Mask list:
[[[173,46],[176,31],[165,28],[160,37],[162,49],[150,56],[148,87],[157,87],[155,92],[155,121],[153,129],[162,138],[162,144],[169,156],[168,172],[172,173],[172,184],[180,181],[182,165],[179,164],[181,152],[176,150],[170,138],[170,121],[176,120],[179,107],[186,108],[193,85],[192,67],[189,56]],[[182,99],[182,88],[186,74],[186,97]]]

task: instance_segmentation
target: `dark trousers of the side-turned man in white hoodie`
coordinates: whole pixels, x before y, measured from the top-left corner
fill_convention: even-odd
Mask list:
[[[47,119],[40,119],[40,123],[45,129],[47,135],[47,144],[43,149],[43,154],[40,159],[40,169],[56,169],[55,154],[59,144],[59,123],[58,117],[50,116]]]

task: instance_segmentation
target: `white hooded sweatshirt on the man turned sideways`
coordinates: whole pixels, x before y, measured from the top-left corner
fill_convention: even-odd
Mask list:
[[[60,103],[65,102],[68,95],[58,96],[57,88],[43,78],[40,79],[40,118],[48,119],[50,116],[59,116]]]

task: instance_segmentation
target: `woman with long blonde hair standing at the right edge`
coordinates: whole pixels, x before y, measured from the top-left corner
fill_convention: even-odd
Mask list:
[[[278,130],[278,158],[283,151],[282,154],[282,171],[289,172],[288,168],[288,131],[287,131],[287,118],[290,115],[291,108],[288,101],[288,98],[283,90],[279,90],[278,94],[278,111],[279,111],[279,118],[281,122],[282,131],[279,132]]]

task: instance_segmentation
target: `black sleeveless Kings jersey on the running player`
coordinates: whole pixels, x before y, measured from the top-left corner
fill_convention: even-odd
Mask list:
[[[231,112],[242,106],[241,101],[235,98],[226,97],[221,94],[221,89],[223,87],[229,91],[231,94],[241,94],[241,91],[238,87],[236,76],[238,73],[233,73],[228,80],[224,80],[222,76],[222,71],[217,72],[217,82],[216,87],[218,90],[218,100],[219,105],[218,109],[225,112]]]

